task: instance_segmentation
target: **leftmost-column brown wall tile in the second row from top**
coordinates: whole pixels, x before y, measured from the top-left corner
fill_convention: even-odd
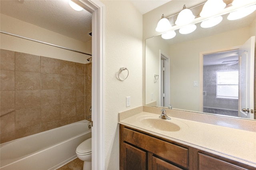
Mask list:
[[[15,90],[15,74],[14,71],[1,70],[0,71],[0,89],[1,90]]]

